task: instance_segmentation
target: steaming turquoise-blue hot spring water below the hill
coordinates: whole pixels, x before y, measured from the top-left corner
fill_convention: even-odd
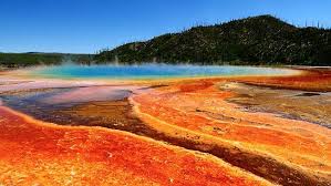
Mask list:
[[[188,64],[139,64],[139,65],[55,65],[37,68],[32,75],[55,79],[167,79],[230,75],[276,75],[291,74],[292,70]]]

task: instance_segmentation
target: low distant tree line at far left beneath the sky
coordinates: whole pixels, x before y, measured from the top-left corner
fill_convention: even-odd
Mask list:
[[[1,53],[0,68],[21,68],[40,64],[61,64],[65,61],[76,63],[91,63],[94,55],[91,54],[71,54],[71,53]]]

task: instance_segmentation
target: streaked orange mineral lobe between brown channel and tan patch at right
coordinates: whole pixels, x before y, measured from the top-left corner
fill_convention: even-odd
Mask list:
[[[132,102],[143,121],[167,135],[271,157],[302,174],[331,180],[329,128],[245,112],[226,101],[234,93],[221,91],[218,82],[213,82],[177,83],[135,95]]]

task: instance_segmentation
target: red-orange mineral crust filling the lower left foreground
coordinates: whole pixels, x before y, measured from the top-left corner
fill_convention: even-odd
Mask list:
[[[1,185],[270,185],[211,156],[101,127],[56,126],[0,106]]]

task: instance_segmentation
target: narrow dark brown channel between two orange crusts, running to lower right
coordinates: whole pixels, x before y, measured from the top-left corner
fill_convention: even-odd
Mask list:
[[[146,121],[146,120],[144,120]],[[155,123],[155,122],[154,122]],[[157,128],[158,127],[158,128]],[[169,126],[164,126],[169,127]],[[157,130],[156,130],[157,128]],[[216,138],[209,138],[198,133],[190,133],[189,131],[180,132],[179,128],[169,130],[172,132],[161,132],[159,125],[155,126],[153,137],[155,140],[165,141],[173,145],[194,149],[203,153],[208,153],[221,158],[232,166],[246,169],[255,175],[266,178],[275,184],[301,186],[301,185],[317,185],[328,186],[330,177],[316,176],[304,170],[291,167],[286,163],[272,158],[267,154],[247,151],[247,148],[237,147],[236,145],[217,143]],[[158,132],[157,132],[158,131]],[[149,133],[151,134],[151,133]]]

